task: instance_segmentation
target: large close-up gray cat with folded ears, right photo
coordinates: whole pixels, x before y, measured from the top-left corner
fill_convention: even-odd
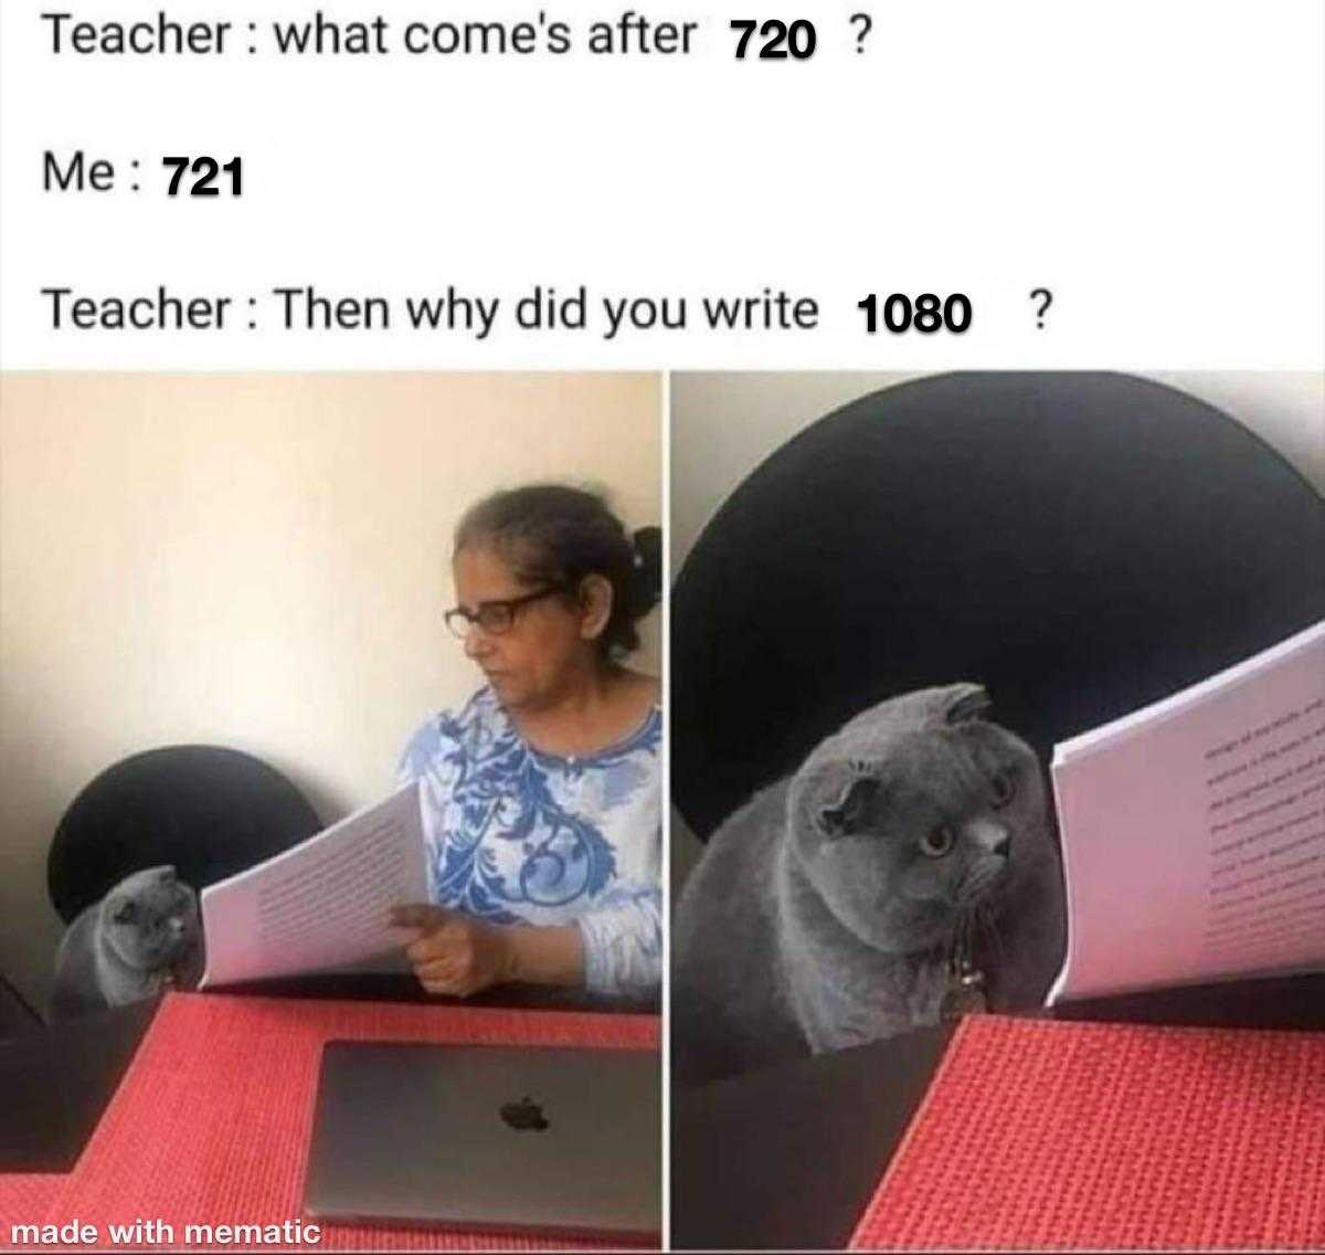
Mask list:
[[[957,684],[873,706],[714,834],[673,930],[680,1081],[933,1024],[971,986],[1043,1002],[1057,844],[1039,762],[988,705]]]

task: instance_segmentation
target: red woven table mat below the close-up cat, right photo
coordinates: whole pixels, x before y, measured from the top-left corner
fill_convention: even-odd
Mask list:
[[[853,1250],[1325,1248],[1325,1035],[967,1019]]]

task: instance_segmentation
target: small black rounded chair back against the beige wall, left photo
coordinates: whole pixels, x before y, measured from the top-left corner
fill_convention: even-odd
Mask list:
[[[172,863],[201,891],[321,830],[280,771],[250,754],[172,745],[102,771],[65,812],[46,859],[65,922],[144,867]]]

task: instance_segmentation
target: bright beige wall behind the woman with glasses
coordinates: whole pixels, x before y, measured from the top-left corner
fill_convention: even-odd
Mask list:
[[[657,523],[659,407],[653,375],[0,379],[0,971],[44,999],[50,835],[127,754],[248,750],[325,819],[384,792],[476,686],[460,512],[556,478]]]

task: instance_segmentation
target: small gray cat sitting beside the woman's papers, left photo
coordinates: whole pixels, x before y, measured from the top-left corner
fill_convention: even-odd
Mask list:
[[[203,974],[197,897],[174,867],[135,872],[69,925],[56,954],[50,1018],[74,1019],[192,989]]]

